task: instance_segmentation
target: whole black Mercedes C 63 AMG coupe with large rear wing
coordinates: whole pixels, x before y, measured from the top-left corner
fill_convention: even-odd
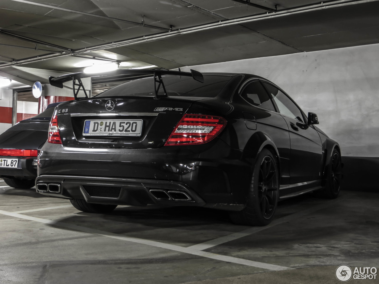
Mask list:
[[[337,197],[339,145],[272,82],[194,70],[119,73],[145,78],[78,98],[88,75],[50,77],[56,87],[73,81],[76,100],[56,107],[37,192],[85,212],[120,204],[224,209],[245,225],[267,225],[283,198]]]

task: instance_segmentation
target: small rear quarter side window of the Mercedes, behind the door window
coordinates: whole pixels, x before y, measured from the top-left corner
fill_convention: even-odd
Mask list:
[[[241,97],[253,106],[275,111],[273,102],[259,81],[253,81],[247,84],[241,93]]]

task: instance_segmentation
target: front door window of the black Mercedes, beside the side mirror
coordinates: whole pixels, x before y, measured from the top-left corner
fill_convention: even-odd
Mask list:
[[[293,119],[297,119],[304,123],[303,116],[300,109],[288,98],[283,92],[274,87],[273,85],[262,82],[267,91],[273,96],[273,100],[279,108],[281,114],[287,115]]]

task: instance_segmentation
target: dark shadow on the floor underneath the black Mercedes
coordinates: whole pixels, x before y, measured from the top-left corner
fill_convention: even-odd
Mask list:
[[[292,200],[282,201],[278,204],[277,214],[274,220],[309,208],[310,204],[319,204],[323,200],[303,195]],[[57,222],[70,223],[99,229],[117,234],[132,234],[134,237],[142,236],[149,231],[155,231],[158,239],[164,239],[164,230],[178,229],[182,231],[198,231],[208,234],[209,232],[234,233],[251,226],[233,224],[229,219],[229,212],[224,210],[202,207],[146,207],[119,206],[110,214],[92,214],[77,212],[74,215],[56,220]],[[159,232],[157,232],[157,229]],[[141,235],[139,235],[141,234]],[[212,234],[212,233],[209,233]]]

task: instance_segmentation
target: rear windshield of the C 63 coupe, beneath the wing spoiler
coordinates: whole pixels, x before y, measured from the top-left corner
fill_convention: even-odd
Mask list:
[[[188,76],[162,76],[169,97],[216,97],[231,78],[230,76],[204,75],[204,83],[200,83]],[[162,87],[158,95],[164,95]],[[149,77],[129,81],[106,90],[96,97],[116,96],[155,96],[154,79]]]

